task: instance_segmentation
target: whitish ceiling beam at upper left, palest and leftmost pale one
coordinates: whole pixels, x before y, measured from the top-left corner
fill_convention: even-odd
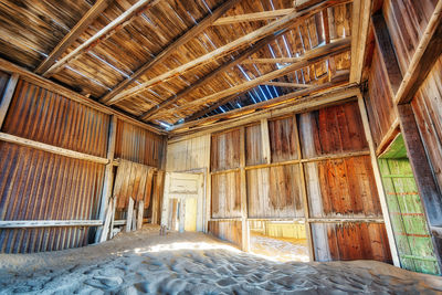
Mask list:
[[[129,24],[135,17],[139,15],[143,11],[150,9],[159,1],[160,0],[138,0],[134,6],[131,6],[128,10],[123,12],[118,18],[113,20],[105,28],[103,28],[96,34],[86,40],[86,42],[84,42],[78,48],[70,52],[66,56],[54,63],[42,75],[44,77],[50,77],[54,75],[67,63],[77,59],[80,54],[90,51],[92,48],[96,46],[99,42],[103,42],[104,40],[108,39],[110,35],[115,33],[116,30],[123,29],[125,25]]]

